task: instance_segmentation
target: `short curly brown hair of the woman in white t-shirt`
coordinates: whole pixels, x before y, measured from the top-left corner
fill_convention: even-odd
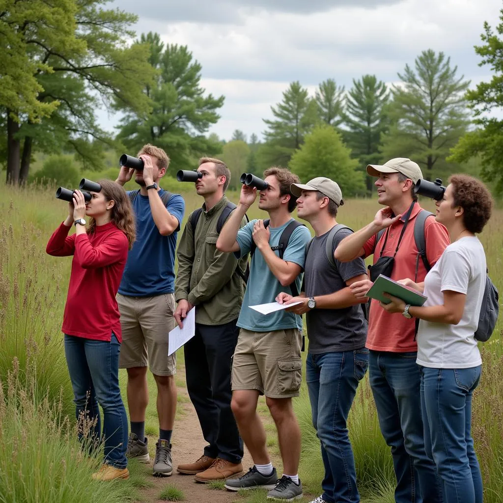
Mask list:
[[[454,206],[463,208],[463,224],[474,234],[482,232],[491,217],[492,196],[489,189],[476,178],[468,175],[452,175]]]

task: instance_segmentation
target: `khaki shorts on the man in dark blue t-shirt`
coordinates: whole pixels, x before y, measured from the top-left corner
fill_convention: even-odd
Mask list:
[[[127,297],[117,294],[121,313],[122,345],[119,368],[146,367],[157,376],[177,372],[176,353],[167,356],[168,333],[176,325],[175,295]]]

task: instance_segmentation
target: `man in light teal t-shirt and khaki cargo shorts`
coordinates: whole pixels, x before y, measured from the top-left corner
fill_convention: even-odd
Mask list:
[[[242,477],[227,480],[225,487],[233,491],[263,487],[271,489],[270,498],[291,500],[302,496],[297,474],[300,429],[292,407],[292,397],[299,395],[302,379],[302,318],[285,310],[263,315],[249,306],[274,302],[281,292],[297,295],[311,234],[299,224],[286,248],[278,249],[283,232],[297,223],[291,216],[297,198],[291,194],[290,185],[299,183],[299,178],[279,167],[271,167],[264,176],[269,185],[260,191],[259,208],[269,213],[269,226],[263,220],[252,220],[239,229],[258,193],[257,189],[243,185],[239,204],[217,241],[219,250],[233,252],[237,258],[251,254],[249,279],[237,320],[240,330],[232,361],[231,406],[255,464]],[[283,458],[283,476],[279,479],[257,414],[260,394],[266,395],[278,431]]]

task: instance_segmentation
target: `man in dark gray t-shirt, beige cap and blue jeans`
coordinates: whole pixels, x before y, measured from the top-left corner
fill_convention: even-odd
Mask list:
[[[288,310],[306,313],[306,382],[325,467],[320,497],[323,501],[360,501],[346,424],[358,383],[367,370],[369,352],[362,300],[354,297],[349,286],[366,279],[367,270],[360,258],[345,264],[334,259],[337,245],[352,232],[336,221],[338,208],[344,204],[339,186],[317,177],[306,185],[292,184],[290,191],[299,196],[298,216],[311,224],[316,236],[308,245],[303,292],[293,298],[281,293],[277,300],[301,301]]]

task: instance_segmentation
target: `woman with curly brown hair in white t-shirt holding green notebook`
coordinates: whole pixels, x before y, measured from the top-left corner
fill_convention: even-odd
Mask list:
[[[397,299],[381,303],[389,312],[420,318],[417,364],[421,370],[421,408],[425,447],[442,480],[445,503],[482,503],[482,477],[471,436],[471,401],[480,379],[477,330],[485,289],[486,261],[475,234],[489,220],[492,198],[480,181],[454,175],[436,219],[451,244],[424,283],[400,282],[423,292],[422,307]]]

